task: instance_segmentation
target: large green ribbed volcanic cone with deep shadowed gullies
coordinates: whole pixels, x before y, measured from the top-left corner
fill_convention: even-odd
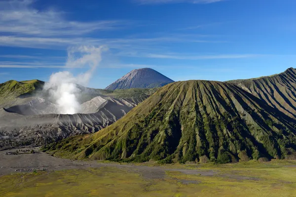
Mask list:
[[[296,121],[236,85],[175,82],[111,126],[51,147],[72,159],[163,163],[285,158],[296,148]]]

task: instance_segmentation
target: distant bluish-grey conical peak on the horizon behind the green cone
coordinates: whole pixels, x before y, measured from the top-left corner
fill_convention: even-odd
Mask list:
[[[107,90],[130,88],[157,88],[174,82],[151,68],[134,69],[109,85]]]

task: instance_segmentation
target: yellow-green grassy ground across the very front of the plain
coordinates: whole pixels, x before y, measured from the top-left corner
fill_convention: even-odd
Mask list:
[[[103,166],[0,177],[1,197],[295,197],[296,162],[164,165],[214,170],[214,176],[166,171],[148,179],[141,170]],[[289,165],[289,167],[287,166]]]

